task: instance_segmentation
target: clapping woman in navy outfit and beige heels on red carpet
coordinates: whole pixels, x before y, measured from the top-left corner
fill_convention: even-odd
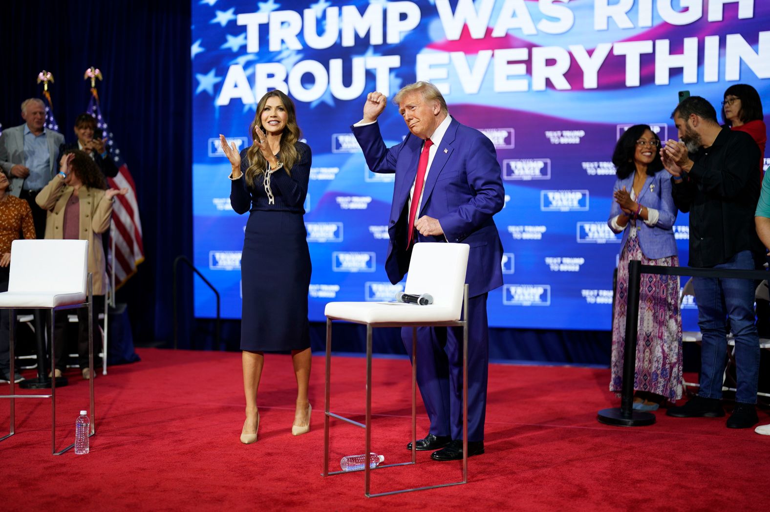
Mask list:
[[[300,142],[292,100],[270,91],[259,100],[249,126],[253,146],[238,153],[235,144],[222,148],[233,166],[230,204],[249,212],[241,258],[243,314],[243,391],[246,421],[240,440],[256,441],[256,407],[264,353],[291,351],[297,397],[292,433],[310,430],[310,333],[307,289],[310,251],[303,215],[310,178],[310,146]]]

